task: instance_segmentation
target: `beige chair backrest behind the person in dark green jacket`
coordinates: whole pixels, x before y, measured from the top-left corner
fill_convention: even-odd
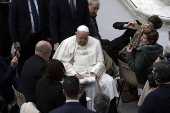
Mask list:
[[[129,68],[128,64],[120,61],[118,59],[119,72],[121,73],[123,79],[132,86],[137,86],[142,88],[143,85],[139,84],[135,73]]]

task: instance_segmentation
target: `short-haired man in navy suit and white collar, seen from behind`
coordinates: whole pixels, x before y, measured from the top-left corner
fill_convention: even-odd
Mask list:
[[[79,103],[80,90],[78,78],[67,76],[63,82],[63,94],[66,95],[66,103],[49,113],[94,113]]]

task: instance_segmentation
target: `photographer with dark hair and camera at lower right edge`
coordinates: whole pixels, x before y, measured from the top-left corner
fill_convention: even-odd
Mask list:
[[[146,96],[138,113],[170,113],[170,62],[154,63],[152,76],[158,88]]]

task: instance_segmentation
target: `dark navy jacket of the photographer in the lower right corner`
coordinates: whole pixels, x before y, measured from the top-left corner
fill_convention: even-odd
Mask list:
[[[170,84],[162,84],[150,92],[138,113],[170,113]]]

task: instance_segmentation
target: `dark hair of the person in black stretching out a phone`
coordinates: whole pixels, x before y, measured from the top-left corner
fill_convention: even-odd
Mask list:
[[[154,25],[155,29],[159,29],[162,27],[162,20],[156,15],[149,17],[148,21],[150,21]]]

